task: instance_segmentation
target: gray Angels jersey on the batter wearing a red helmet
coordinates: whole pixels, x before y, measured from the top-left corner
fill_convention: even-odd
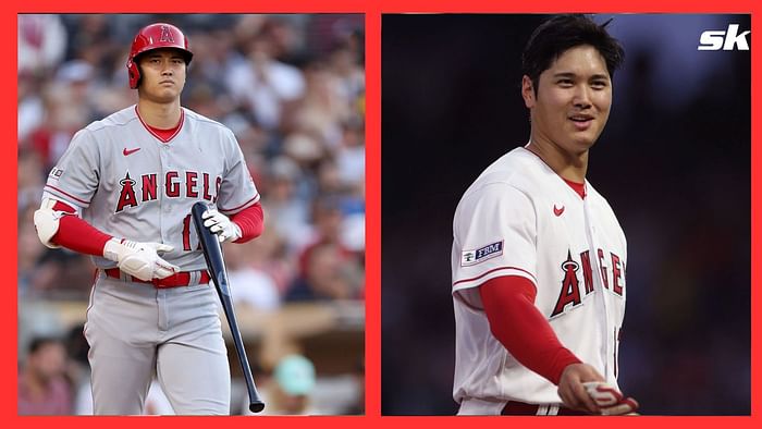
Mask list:
[[[181,122],[167,143],[143,123],[136,106],[89,124],[50,172],[46,196],[76,207],[107,234],[173,246],[162,257],[182,271],[206,269],[190,207],[207,201],[230,216],[259,194],[228,127],[185,108]]]

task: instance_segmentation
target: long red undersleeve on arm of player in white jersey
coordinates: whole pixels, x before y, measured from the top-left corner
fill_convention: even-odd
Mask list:
[[[534,307],[531,281],[499,277],[479,286],[479,293],[492,334],[521,365],[557,385],[564,368],[580,363]]]

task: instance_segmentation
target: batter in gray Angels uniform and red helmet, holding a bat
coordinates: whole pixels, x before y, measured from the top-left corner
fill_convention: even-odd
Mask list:
[[[85,336],[94,410],[142,414],[157,376],[176,414],[230,414],[230,369],[190,207],[221,242],[262,231],[259,194],[233,133],[181,107],[193,58],[151,24],[127,70],[138,102],[77,132],[35,212],[40,241],[93,255]]]

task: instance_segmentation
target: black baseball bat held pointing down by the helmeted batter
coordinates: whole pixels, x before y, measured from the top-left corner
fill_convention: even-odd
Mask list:
[[[235,320],[233,298],[230,294],[230,283],[228,281],[228,271],[225,270],[225,262],[222,259],[222,247],[220,246],[220,241],[217,238],[217,235],[209,231],[208,228],[204,226],[201,214],[207,208],[208,206],[206,204],[199,201],[193,205],[190,213],[196,224],[198,240],[201,242],[204,258],[207,260],[209,274],[211,274],[211,280],[214,282],[214,289],[217,289],[217,294],[220,296],[222,308],[225,310],[228,326],[230,326],[230,332],[233,335],[233,343],[235,344],[235,353],[238,355],[241,368],[244,370],[244,380],[246,380],[246,390],[248,390],[248,409],[250,409],[251,413],[259,413],[265,409],[265,403],[260,399],[259,392],[257,392],[257,387],[254,384],[254,377],[251,376],[251,368],[246,357],[244,341],[241,339],[238,322]]]

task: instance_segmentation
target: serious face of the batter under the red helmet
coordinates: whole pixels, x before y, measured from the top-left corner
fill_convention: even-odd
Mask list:
[[[171,102],[185,86],[185,59],[176,49],[155,49],[140,57],[140,96]]]

